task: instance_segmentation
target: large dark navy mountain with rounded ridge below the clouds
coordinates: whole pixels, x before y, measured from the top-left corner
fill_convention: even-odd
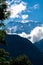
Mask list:
[[[33,65],[43,65],[43,54],[26,38],[18,35],[7,35],[5,37],[7,46],[0,45],[10,52],[11,56],[19,56],[25,54],[29,57]]]

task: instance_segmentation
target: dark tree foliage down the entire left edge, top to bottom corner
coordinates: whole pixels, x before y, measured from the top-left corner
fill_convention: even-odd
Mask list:
[[[6,0],[0,0],[0,43],[2,44],[6,44],[4,40],[6,30],[3,29],[3,27],[5,26],[4,20],[6,20],[10,15],[10,11],[7,11],[7,7],[8,4],[6,3]],[[8,52],[0,48],[0,65],[9,65],[9,61],[7,60],[7,58]]]

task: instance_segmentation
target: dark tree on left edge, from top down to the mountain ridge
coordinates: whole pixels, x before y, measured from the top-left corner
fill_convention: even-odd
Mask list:
[[[9,17],[10,11],[7,11],[8,4],[6,0],[0,0],[0,42],[5,43],[4,37],[6,31],[2,28],[5,26],[4,20]]]

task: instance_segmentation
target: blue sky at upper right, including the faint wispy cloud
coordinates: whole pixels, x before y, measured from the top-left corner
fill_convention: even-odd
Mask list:
[[[11,1],[11,0],[8,0],[8,1]],[[25,12],[25,14],[29,15],[28,19],[33,21],[43,22],[43,0],[21,0],[21,2],[22,1],[27,4],[26,5],[27,10],[30,10],[30,12],[27,12],[27,11]]]

